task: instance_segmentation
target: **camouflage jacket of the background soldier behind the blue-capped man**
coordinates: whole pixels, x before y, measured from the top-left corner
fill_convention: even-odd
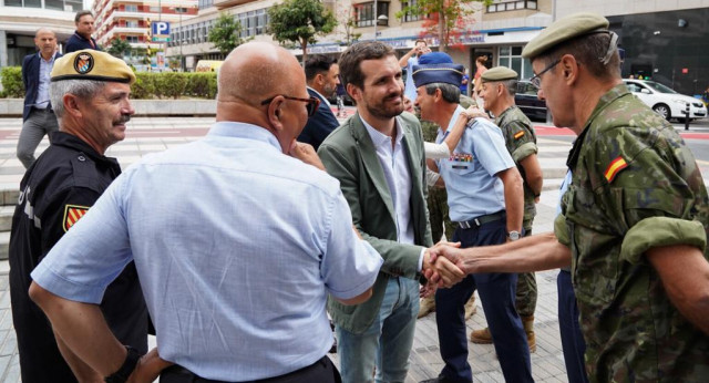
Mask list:
[[[532,122],[516,105],[512,105],[502,112],[500,116],[495,118],[495,125],[502,130],[507,152],[512,155],[512,159],[514,159],[522,175],[522,179],[524,179],[524,218],[522,227],[530,231],[534,216],[536,216],[536,204],[534,204],[534,192],[532,192],[530,184],[527,184],[524,167],[520,162],[537,153],[536,135],[534,134]]]

